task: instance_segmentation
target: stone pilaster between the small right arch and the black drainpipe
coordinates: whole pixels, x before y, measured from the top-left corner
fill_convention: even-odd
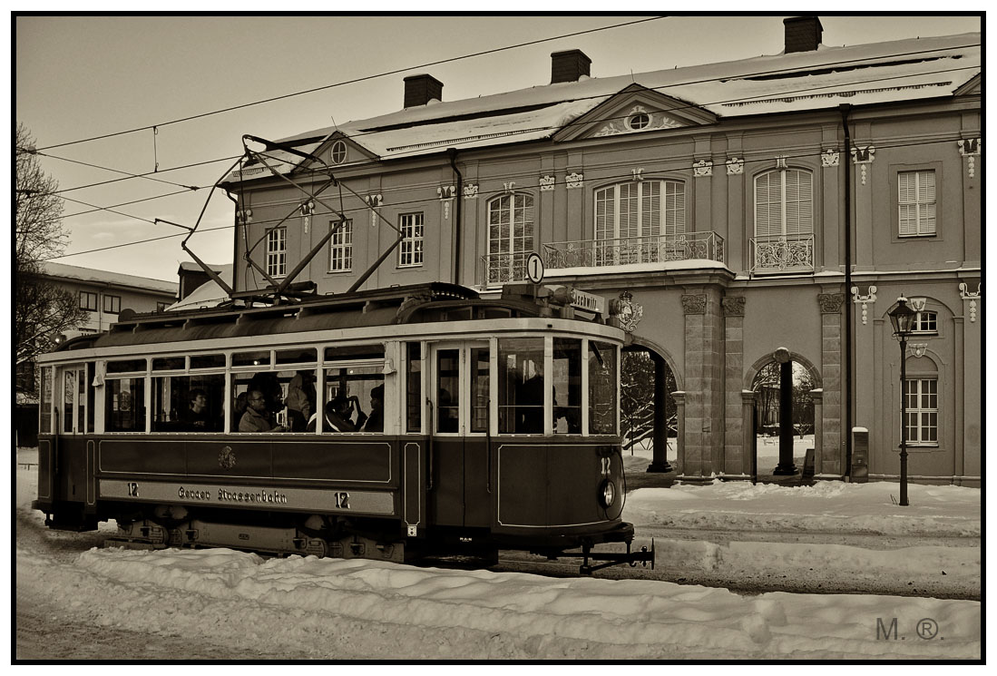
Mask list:
[[[821,362],[824,381],[822,440],[820,455],[815,458],[815,473],[836,475],[844,472],[844,449],[841,446],[841,305],[843,293],[820,293]],[[817,453],[817,452],[815,452]]]

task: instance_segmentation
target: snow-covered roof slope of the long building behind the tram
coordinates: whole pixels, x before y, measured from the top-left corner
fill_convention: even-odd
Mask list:
[[[336,132],[379,157],[482,148],[551,137],[636,83],[722,118],[951,96],[980,73],[980,34],[916,38],[760,56],[680,69],[585,78],[462,101],[434,103],[306,132]],[[508,111],[501,115],[502,111]],[[306,147],[314,150],[312,141]],[[288,158],[290,159],[290,158]],[[259,168],[259,170],[265,170]]]

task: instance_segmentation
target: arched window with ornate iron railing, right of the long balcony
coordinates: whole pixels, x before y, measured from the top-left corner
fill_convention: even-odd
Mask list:
[[[805,169],[775,169],[755,176],[752,269],[814,269],[814,178]]]

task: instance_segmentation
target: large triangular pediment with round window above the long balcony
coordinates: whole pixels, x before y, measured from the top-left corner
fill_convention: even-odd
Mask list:
[[[689,102],[633,84],[602,102],[554,135],[575,141],[713,125],[717,116]]]

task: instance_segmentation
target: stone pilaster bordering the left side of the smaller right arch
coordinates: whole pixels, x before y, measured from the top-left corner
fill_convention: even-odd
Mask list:
[[[722,301],[724,308],[724,478],[750,479],[752,445],[751,424],[745,434],[744,392],[744,296],[728,296]],[[754,393],[752,393],[754,396]],[[754,399],[752,400],[754,401]],[[748,444],[745,445],[745,441]]]

